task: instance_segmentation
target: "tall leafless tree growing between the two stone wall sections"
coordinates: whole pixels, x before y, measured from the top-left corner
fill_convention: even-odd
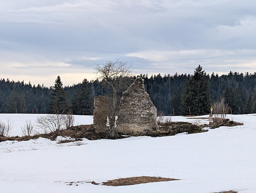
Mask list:
[[[107,61],[105,64],[98,65],[95,68],[95,73],[98,78],[102,79],[103,86],[107,93],[109,113],[108,124],[109,130],[107,134],[110,137],[115,137],[117,134],[116,118],[120,110],[119,102],[122,92],[125,91],[132,83],[130,78],[132,70],[126,62],[116,59],[115,61]]]

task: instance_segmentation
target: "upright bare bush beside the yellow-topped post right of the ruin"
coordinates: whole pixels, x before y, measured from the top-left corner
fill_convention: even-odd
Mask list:
[[[214,113],[214,124],[224,124],[226,121],[227,113],[229,112],[229,105],[225,103],[225,99],[221,98],[219,101],[215,102],[213,105]]]

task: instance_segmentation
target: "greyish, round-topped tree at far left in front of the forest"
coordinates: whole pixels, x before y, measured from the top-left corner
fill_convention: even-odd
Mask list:
[[[17,93],[16,89],[12,90],[5,107],[6,113],[26,113],[25,93]]]

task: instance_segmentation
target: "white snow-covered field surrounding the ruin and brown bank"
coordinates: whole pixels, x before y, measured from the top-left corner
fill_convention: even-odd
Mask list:
[[[0,119],[6,117],[14,121],[14,135],[20,135],[20,127],[27,118],[34,119],[28,114],[0,114]],[[92,116],[75,118],[79,124],[92,123]],[[177,116],[173,121],[195,122],[186,118]],[[234,115],[233,118],[244,125],[168,137],[84,139],[80,144],[57,144],[58,140],[43,138],[0,142],[0,192],[213,193],[235,190],[255,193],[256,114]],[[207,121],[200,120],[203,122]],[[132,176],[181,180],[118,187],[90,183],[69,186],[66,183],[101,183]]]

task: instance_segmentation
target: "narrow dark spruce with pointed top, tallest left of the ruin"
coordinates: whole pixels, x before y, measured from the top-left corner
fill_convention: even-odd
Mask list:
[[[55,80],[53,93],[49,102],[49,113],[67,113],[70,110],[70,104],[67,101],[67,95],[63,89],[63,83],[58,76]]]

